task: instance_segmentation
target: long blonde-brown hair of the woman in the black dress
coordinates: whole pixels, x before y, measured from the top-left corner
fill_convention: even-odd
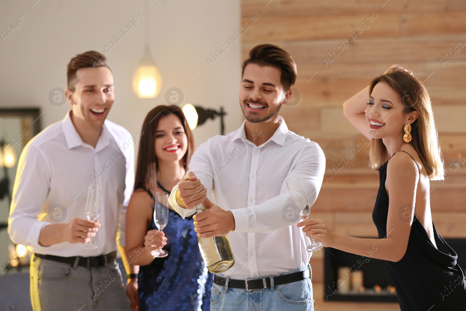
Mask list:
[[[369,94],[374,86],[384,82],[396,91],[404,104],[404,113],[418,111],[418,118],[411,124],[411,145],[418,152],[419,158],[430,180],[443,180],[444,167],[439,137],[435,128],[432,103],[424,84],[404,70],[393,69],[378,76],[369,86]],[[370,167],[378,169],[388,161],[387,148],[381,138],[372,138],[370,144]]]

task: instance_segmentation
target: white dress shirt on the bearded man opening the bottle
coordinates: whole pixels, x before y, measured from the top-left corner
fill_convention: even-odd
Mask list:
[[[322,185],[325,157],[317,143],[288,131],[282,117],[279,122],[274,135],[256,146],[246,138],[245,121],[238,130],[201,144],[189,163],[212,202],[235,219],[228,238],[236,262],[223,276],[276,275],[306,265],[312,254],[306,251],[309,238],[295,225],[299,218],[290,223],[285,180],[298,176],[312,205]],[[171,206],[183,217],[195,213],[195,208],[177,204],[177,189],[172,189]]]

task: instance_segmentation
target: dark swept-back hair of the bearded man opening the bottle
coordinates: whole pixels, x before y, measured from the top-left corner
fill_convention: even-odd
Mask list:
[[[244,69],[247,64],[255,63],[259,66],[270,66],[280,69],[280,82],[283,85],[283,90],[287,91],[290,86],[295,84],[297,69],[296,63],[282,48],[273,44],[259,44],[249,51],[249,58],[243,62],[241,78],[244,75]]]

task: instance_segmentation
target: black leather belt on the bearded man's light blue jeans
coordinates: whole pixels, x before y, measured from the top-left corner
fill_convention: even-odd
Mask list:
[[[305,280],[309,277],[309,270],[299,271],[295,273],[285,274],[282,276],[274,276],[274,286],[288,284]],[[226,278],[215,275],[213,277],[213,283],[225,286]],[[228,287],[239,288],[242,290],[260,290],[262,288],[270,288],[270,277],[253,280],[228,280]]]

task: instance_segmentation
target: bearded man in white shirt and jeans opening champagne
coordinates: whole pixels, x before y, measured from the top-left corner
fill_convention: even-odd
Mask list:
[[[288,131],[278,116],[295,83],[291,56],[270,44],[254,47],[249,56],[240,85],[246,121],[199,146],[170,204],[185,217],[205,201],[209,209],[194,215],[198,236],[228,234],[236,263],[215,276],[212,311],[313,310],[310,241],[295,225],[299,216],[286,180],[299,177],[312,205],[325,157],[319,145]]]

